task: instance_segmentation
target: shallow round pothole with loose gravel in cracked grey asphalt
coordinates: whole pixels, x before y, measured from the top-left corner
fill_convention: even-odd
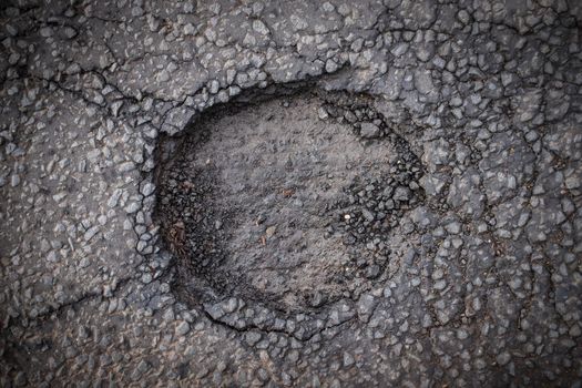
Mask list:
[[[161,140],[155,216],[186,303],[313,312],[391,276],[421,167],[364,96],[214,110]]]

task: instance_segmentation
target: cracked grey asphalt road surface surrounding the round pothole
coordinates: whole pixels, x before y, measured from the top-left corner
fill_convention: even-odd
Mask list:
[[[581,23],[576,0],[3,1],[0,386],[580,387]],[[388,242],[377,187],[345,218],[394,265],[315,312],[184,302],[162,139],[294,85],[368,101],[314,125],[418,156]]]

